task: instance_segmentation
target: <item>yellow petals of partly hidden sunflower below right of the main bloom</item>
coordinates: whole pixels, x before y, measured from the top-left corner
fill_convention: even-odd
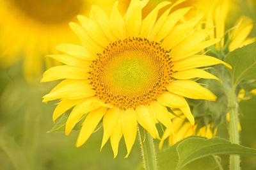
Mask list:
[[[176,111],[175,113],[178,115],[180,114],[179,111]],[[172,123],[173,127],[175,128],[175,134],[172,134],[172,132],[168,128],[164,130],[163,137],[161,138],[161,141],[159,143],[160,150],[163,148],[164,140],[168,137],[168,143],[171,146],[191,135],[203,136],[210,139],[214,137],[217,130],[216,128],[212,130],[212,124],[210,123],[207,125],[207,127],[204,126],[198,129],[198,125],[191,125],[191,123],[186,121],[186,118],[183,115],[180,117],[173,116]]]

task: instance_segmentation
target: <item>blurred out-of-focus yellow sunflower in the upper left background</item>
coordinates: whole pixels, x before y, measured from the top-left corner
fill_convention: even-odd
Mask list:
[[[109,2],[111,0],[104,6]],[[56,45],[60,43],[77,42],[68,22],[76,21],[79,14],[87,14],[91,3],[86,0],[0,0],[1,65],[10,66],[22,59],[26,78],[35,81],[33,77],[42,74],[46,54],[56,52]],[[47,65],[52,64],[47,60]]]

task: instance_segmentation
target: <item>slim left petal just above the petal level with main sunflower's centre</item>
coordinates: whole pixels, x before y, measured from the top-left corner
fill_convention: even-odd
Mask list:
[[[56,55],[49,55],[47,57],[56,59],[61,63],[68,65],[68,66],[79,66],[79,67],[88,67],[91,65],[90,61],[86,61],[84,59],[75,58],[73,56],[68,56],[67,54],[56,54]],[[89,58],[88,58],[89,59]],[[93,60],[93,59],[91,59]]]

